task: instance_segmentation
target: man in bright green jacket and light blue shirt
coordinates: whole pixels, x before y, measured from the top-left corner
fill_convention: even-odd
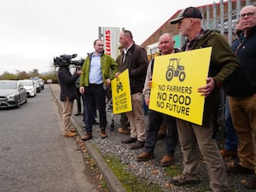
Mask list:
[[[84,141],[92,138],[92,125],[96,107],[99,110],[101,137],[106,138],[106,88],[110,85],[113,74],[119,67],[113,58],[104,54],[104,44],[101,39],[94,41],[95,51],[89,54],[82,67],[80,78],[80,92],[84,94],[84,125],[86,134],[81,139]]]

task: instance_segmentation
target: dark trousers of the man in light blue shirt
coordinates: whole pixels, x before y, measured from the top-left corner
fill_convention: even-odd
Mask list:
[[[106,128],[106,90],[103,84],[90,84],[84,91],[84,125],[85,131],[92,131],[96,107],[99,110],[100,127]]]

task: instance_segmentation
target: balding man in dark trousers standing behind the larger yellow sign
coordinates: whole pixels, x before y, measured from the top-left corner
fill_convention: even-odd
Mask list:
[[[159,39],[159,49],[161,55],[172,54],[178,51],[174,49],[175,41],[173,41],[172,34],[164,33]],[[145,79],[143,95],[146,105],[149,104],[150,84],[152,83],[154,59],[148,64],[147,76]],[[174,162],[174,152],[177,146],[177,126],[176,119],[169,115],[160,113],[154,110],[148,112],[148,130],[146,133],[146,141],[144,151],[137,156],[137,161],[145,161],[154,158],[154,147],[157,141],[157,134],[160,131],[160,125],[165,120],[166,125],[166,154],[160,160],[160,166],[171,166]]]

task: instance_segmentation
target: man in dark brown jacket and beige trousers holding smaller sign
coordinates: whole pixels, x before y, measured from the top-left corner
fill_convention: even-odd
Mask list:
[[[145,142],[145,120],[143,110],[143,86],[148,67],[148,56],[143,47],[134,43],[132,34],[124,30],[119,34],[123,46],[123,61],[119,72],[129,69],[132,111],[126,113],[131,125],[131,137],[121,143],[132,143],[131,149],[143,148]],[[118,77],[119,73],[116,73]]]

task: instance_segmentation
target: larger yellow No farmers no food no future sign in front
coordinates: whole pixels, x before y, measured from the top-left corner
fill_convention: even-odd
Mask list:
[[[206,84],[211,53],[210,47],[155,57],[149,108],[201,125],[205,97],[197,90]]]

